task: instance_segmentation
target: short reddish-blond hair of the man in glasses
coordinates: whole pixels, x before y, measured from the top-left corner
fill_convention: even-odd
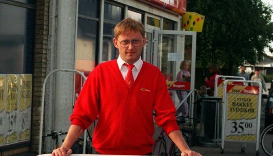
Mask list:
[[[119,22],[114,28],[115,38],[124,33],[130,33],[131,31],[139,31],[142,37],[145,36],[145,28],[141,22],[133,20],[131,18],[126,18]]]

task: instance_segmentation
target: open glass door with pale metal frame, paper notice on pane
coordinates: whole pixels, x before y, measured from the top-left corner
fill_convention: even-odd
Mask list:
[[[160,68],[166,81],[179,81],[177,84],[183,86],[180,89],[189,93],[190,90],[195,88],[196,32],[154,30],[153,41],[152,63]],[[187,73],[188,76],[177,78],[181,71]],[[170,91],[170,95],[177,106],[181,98],[179,98],[175,89]],[[191,105],[189,109],[193,111]]]

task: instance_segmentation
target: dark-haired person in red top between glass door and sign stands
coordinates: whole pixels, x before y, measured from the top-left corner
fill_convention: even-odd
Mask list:
[[[208,79],[208,77],[205,77],[205,85],[206,87],[210,88],[212,91],[209,91],[209,95],[213,96],[214,93],[214,86],[215,86],[215,78],[217,75],[219,75],[219,70],[218,67],[216,66],[216,64],[211,64],[209,67],[209,72],[210,72],[210,78]]]

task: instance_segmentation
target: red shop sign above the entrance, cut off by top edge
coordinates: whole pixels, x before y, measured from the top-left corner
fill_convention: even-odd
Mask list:
[[[154,3],[162,8],[166,8],[180,15],[186,13],[187,0],[147,0],[151,3]]]

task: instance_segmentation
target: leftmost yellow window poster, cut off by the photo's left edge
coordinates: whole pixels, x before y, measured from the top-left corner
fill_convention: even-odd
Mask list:
[[[0,74],[0,146],[4,145],[4,117],[5,117],[5,105],[6,105],[6,75]]]

